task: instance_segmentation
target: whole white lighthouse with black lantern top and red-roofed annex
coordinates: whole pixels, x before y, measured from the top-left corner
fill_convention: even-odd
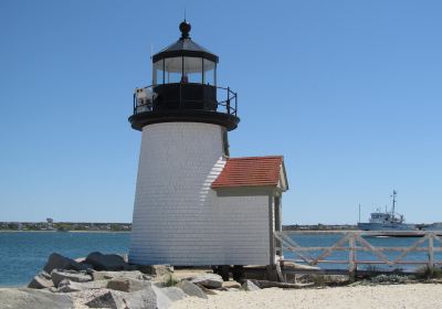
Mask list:
[[[218,85],[219,57],[190,38],[190,23],[179,30],[151,57],[151,86],[134,94],[129,122],[141,147],[129,262],[273,264],[288,189],[283,157],[230,158],[238,95]]]

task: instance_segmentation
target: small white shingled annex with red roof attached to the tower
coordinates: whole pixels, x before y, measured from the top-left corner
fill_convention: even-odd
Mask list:
[[[217,204],[232,214],[225,222],[225,234],[238,232],[238,239],[228,241],[234,265],[273,265],[276,252],[274,231],[282,231],[282,194],[288,190],[282,156],[229,158],[211,185]],[[252,198],[252,200],[250,200]],[[248,200],[243,205],[242,201]],[[231,209],[231,207],[236,209]],[[230,228],[230,225],[235,225]],[[234,251],[234,243],[241,248]],[[250,256],[253,254],[253,257]],[[243,263],[241,255],[244,256]]]

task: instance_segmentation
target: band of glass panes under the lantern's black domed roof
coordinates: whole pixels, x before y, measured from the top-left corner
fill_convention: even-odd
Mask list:
[[[217,63],[203,57],[166,57],[154,63],[152,84],[217,85]]]

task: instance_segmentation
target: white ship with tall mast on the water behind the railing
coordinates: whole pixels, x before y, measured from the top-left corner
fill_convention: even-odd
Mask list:
[[[358,228],[361,231],[418,231],[415,224],[406,223],[402,214],[396,212],[396,196],[397,192],[393,190],[391,211],[382,212],[378,209],[370,214],[368,222],[358,222]],[[359,209],[360,214],[360,209]]]

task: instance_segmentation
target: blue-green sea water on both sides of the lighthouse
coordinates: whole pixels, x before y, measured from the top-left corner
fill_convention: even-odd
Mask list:
[[[83,257],[91,252],[126,254],[129,246],[129,233],[54,233],[54,232],[1,232],[0,233],[0,286],[23,286],[39,273],[48,257],[56,252],[71,258]],[[302,246],[330,246],[339,235],[296,235],[293,238]],[[410,246],[418,238],[367,238],[376,246]],[[427,243],[422,244],[425,246]],[[434,243],[440,246],[440,244]],[[318,253],[312,253],[317,256]],[[389,258],[399,253],[387,253]],[[293,253],[285,252],[285,258],[297,258]],[[330,259],[346,260],[348,252],[337,252]],[[410,253],[406,260],[422,260],[427,253]],[[369,253],[358,253],[358,259],[377,260]],[[442,260],[442,253],[435,254],[436,260]],[[345,264],[330,264],[327,267],[345,268]],[[378,269],[382,268],[376,266]],[[399,265],[409,269],[410,266]]]

